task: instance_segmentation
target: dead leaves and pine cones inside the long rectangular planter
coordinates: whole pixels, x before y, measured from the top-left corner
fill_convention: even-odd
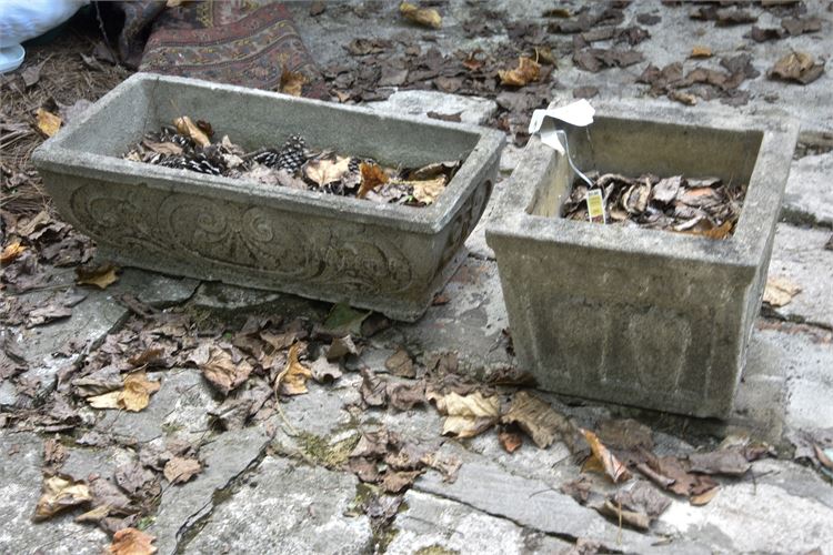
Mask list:
[[[384,168],[375,160],[340,155],[308,148],[291,135],[280,149],[244,152],[228,135],[211,142],[213,130],[204,121],[184,115],[149,133],[126,160],[189,170],[209,175],[254,181],[264,185],[353,196],[381,203],[428,206],[442,194],[461,161],[420,168]]]

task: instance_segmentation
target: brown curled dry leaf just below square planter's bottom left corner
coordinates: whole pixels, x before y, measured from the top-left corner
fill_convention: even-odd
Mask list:
[[[576,451],[576,427],[566,416],[555,412],[549,403],[529,392],[515,393],[509,412],[501,417],[501,422],[518,424],[540,448],[546,448],[555,438],[561,438],[572,453]]]

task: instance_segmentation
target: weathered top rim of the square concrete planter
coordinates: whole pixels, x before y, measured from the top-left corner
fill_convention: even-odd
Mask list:
[[[790,164],[784,163],[781,158],[784,149],[789,148],[787,162],[792,160],[799,135],[797,123],[777,111],[773,111],[770,117],[749,117],[719,110],[691,112],[676,107],[662,107],[658,110],[656,107],[622,102],[600,103],[596,117],[630,120],[634,123],[761,132],[761,145],[747,183],[759,183],[759,186],[747,190],[734,233],[724,240],[711,240],[663,230],[600,225],[566,220],[560,215],[530,214],[528,209],[534,201],[535,189],[544,174],[543,169],[549,169],[560,157],[555,150],[543,144],[538,135],[533,135],[503,188],[503,194],[494,203],[485,228],[488,243],[494,246],[493,241],[533,241],[662,259],[684,259],[734,269],[744,276],[751,276],[766,249],[769,226],[774,224],[781,209],[780,202],[767,202],[765,188],[760,186],[760,183],[786,183]]]

